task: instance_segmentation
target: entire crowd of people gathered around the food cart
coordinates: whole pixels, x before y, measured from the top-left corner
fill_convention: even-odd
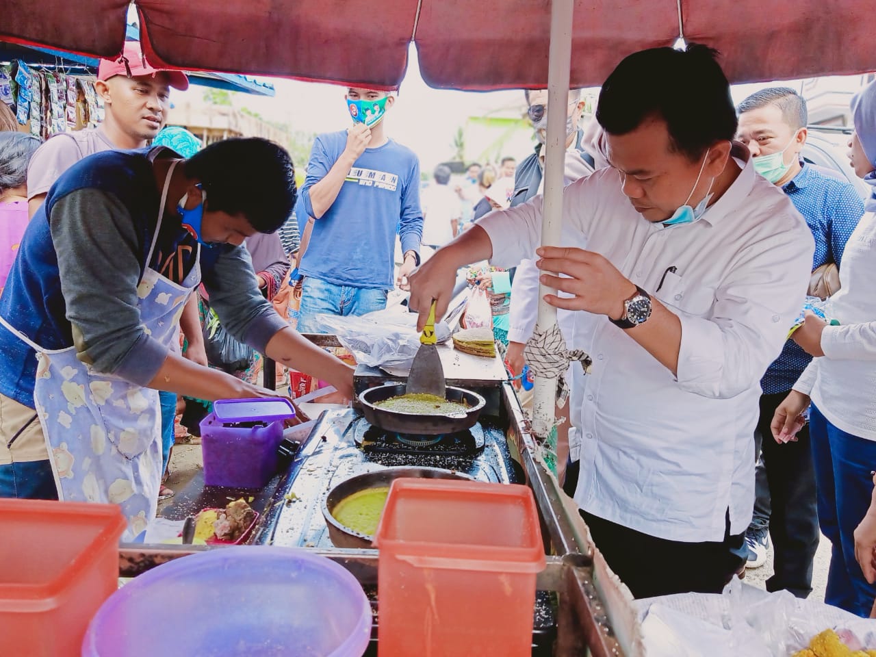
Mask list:
[[[525,92],[526,158],[472,163],[459,182],[437,166],[421,189],[417,155],[389,134],[395,95],[347,88],[352,127],[315,139],[299,190],[278,145],[202,147],[166,127],[187,79],[136,48],[102,60],[100,127],[44,145],[0,131],[0,496],[117,503],[133,540],[173,494],[161,477],[184,406],[273,394],[262,355],[351,399],[350,367],[299,332],[381,310],[396,288],[422,325],[460,268],[489,261],[470,284],[491,295],[512,375],[540,283],[590,355],[565,377],[557,475],[635,597],[720,591],[770,539],[767,589],[806,597],[821,532],[826,602],[869,615],[876,192],[862,201],[802,159],[793,89],[734,106],[716,53],[692,44],[622,60],[588,126],[570,91],[563,246],[540,247],[545,89]],[[852,102],[849,145],[871,186],[874,85]],[[289,286],[297,330],[271,304]],[[826,288],[824,316],[800,320]],[[217,322],[243,360],[208,357]]]

